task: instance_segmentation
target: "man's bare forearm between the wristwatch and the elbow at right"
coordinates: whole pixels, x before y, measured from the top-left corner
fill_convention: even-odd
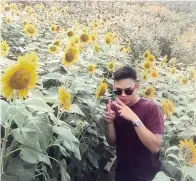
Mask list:
[[[157,153],[160,149],[161,143],[156,135],[149,131],[144,124],[135,127],[136,133],[140,141],[152,152]]]

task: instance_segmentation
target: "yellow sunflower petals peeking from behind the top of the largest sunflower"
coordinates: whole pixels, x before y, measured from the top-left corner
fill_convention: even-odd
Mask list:
[[[38,66],[38,56],[35,52],[26,53],[24,56],[19,56],[17,61],[27,61],[33,64],[35,67]]]

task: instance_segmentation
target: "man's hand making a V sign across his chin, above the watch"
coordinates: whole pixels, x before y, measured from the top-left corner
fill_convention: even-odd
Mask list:
[[[123,118],[133,123],[139,119],[138,116],[120,99],[116,98],[116,101],[113,102],[113,104],[118,108],[118,112]]]

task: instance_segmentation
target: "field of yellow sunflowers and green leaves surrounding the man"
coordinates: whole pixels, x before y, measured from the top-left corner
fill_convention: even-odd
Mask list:
[[[196,4],[190,7],[2,0],[1,179],[103,181],[115,159],[103,113],[113,72],[131,65],[139,94],[164,112],[154,181],[196,181]]]

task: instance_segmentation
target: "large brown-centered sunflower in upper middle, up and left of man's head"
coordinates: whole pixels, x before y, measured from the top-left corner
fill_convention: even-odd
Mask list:
[[[78,48],[76,46],[70,46],[65,50],[65,53],[62,58],[62,63],[65,66],[71,66],[78,60],[78,56]]]

